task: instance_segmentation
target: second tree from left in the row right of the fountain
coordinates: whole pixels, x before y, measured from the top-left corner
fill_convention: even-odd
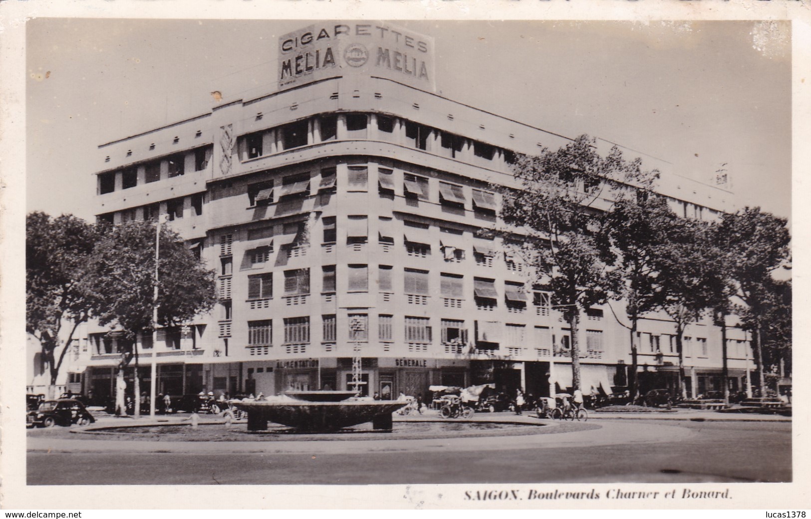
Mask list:
[[[628,315],[631,345],[629,390],[637,396],[637,324],[642,315],[663,304],[662,277],[656,265],[659,249],[667,244],[676,225],[676,214],[667,199],[652,195],[644,188],[620,197],[604,216],[604,228],[611,237],[611,247],[618,255],[617,268],[624,282],[614,298],[623,300]]]

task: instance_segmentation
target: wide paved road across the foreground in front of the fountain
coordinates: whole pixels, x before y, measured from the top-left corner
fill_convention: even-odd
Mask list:
[[[29,442],[33,450],[28,453],[28,484],[685,483],[792,478],[790,422],[601,420],[599,425],[602,432],[461,439],[466,442],[317,442],[311,448],[308,442],[253,442],[244,448],[207,443],[176,449],[165,443],[92,440],[72,450],[55,444],[47,453],[42,444]],[[602,442],[590,443],[600,435]],[[111,449],[119,443],[130,447],[124,446],[126,452]],[[107,444],[109,450],[92,452],[92,444]],[[137,452],[135,444],[145,452]]]

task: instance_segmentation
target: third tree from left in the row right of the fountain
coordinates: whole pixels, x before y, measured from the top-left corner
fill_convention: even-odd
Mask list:
[[[657,247],[656,268],[663,287],[662,308],[676,327],[679,354],[679,392],[684,387],[684,329],[702,318],[708,308],[719,306],[723,277],[715,268],[724,259],[714,242],[712,227],[703,221],[680,218],[672,225],[667,243]]]

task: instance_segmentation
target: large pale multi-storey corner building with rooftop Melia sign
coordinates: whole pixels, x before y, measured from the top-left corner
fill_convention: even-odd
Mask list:
[[[352,389],[353,358],[358,389],[384,397],[427,398],[431,384],[571,386],[569,330],[504,242],[520,234],[482,233],[504,227],[488,186],[520,187],[510,154],[568,140],[436,95],[431,38],[384,27],[282,36],[276,92],[99,146],[98,217],[167,214],[218,274],[210,315],[138,341],[142,366],[157,356],[158,392]],[[644,164],[663,170],[661,191],[684,216],[731,207],[721,187]],[[584,390],[626,385],[626,328],[607,306],[582,323]],[[640,328],[643,389],[674,388],[672,323]],[[721,388],[720,330],[702,322],[685,335],[689,391]],[[90,337],[85,389],[112,394],[120,339]],[[728,337],[730,384],[742,388],[749,341]]]

